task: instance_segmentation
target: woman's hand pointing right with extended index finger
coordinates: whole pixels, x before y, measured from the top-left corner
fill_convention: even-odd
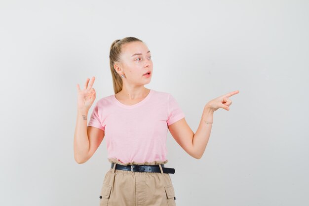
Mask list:
[[[205,107],[209,107],[213,112],[219,108],[223,108],[225,110],[230,110],[229,106],[232,104],[232,100],[229,99],[234,94],[238,94],[239,90],[229,92],[222,96],[219,96],[211,101],[209,101]]]

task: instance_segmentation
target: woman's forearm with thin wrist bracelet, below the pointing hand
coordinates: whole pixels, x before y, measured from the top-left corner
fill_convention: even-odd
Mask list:
[[[195,134],[193,135],[193,151],[197,159],[200,159],[204,154],[212,127],[212,124],[207,124],[204,121],[212,123],[214,117],[213,114],[214,111],[208,105],[206,105],[204,107],[204,111],[202,114],[202,118],[199,122],[199,126]]]

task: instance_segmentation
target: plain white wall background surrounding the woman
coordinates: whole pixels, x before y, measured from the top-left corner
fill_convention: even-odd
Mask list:
[[[201,159],[168,133],[177,206],[309,205],[308,11],[308,0],[1,0],[0,205],[99,205],[110,163],[105,140],[74,160],[76,84],[95,76],[95,102],[114,94],[109,51],[124,37],[148,45],[145,87],[171,93],[194,132],[208,101],[239,90]]]

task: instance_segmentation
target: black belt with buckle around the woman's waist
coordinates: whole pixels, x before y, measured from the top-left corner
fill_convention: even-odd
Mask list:
[[[164,167],[161,165],[163,173],[175,173],[174,168]],[[112,163],[111,168],[114,168],[114,163]],[[126,171],[137,171],[137,172],[161,172],[159,165],[119,165],[116,164],[115,169],[126,170]]]

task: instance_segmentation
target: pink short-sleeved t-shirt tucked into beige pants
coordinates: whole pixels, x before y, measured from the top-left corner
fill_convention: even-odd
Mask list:
[[[122,104],[114,94],[99,99],[88,126],[104,130],[108,159],[145,163],[167,160],[167,125],[184,117],[170,93],[151,89],[134,105]]]

